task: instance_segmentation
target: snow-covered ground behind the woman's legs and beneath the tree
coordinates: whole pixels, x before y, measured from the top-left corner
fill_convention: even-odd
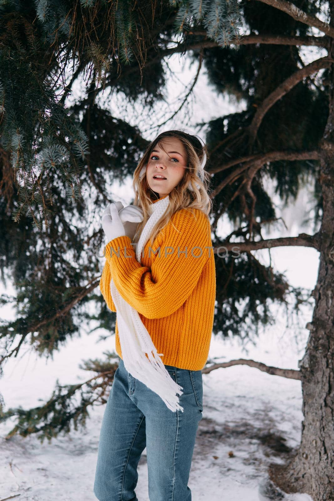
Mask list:
[[[71,341],[53,362],[10,362],[0,380],[6,407],[36,405],[50,396],[57,377],[75,382],[81,359],[100,356],[107,341],[96,344],[97,334]],[[114,342],[114,337],[112,338]],[[306,338],[291,339],[279,326],[266,330],[258,346],[242,351],[235,340],[212,339],[210,358],[230,360],[240,356],[269,365],[297,368]],[[108,340],[108,347],[111,339]],[[113,345],[114,347],[114,345]],[[112,348],[113,348],[112,347]],[[217,358],[216,358],[217,357]],[[219,358],[218,358],[219,357]],[[24,359],[23,359],[24,360]],[[203,419],[200,421],[189,487],[194,501],[262,500],[259,487],[267,478],[270,462],[283,462],[286,450],[300,439],[300,382],[270,376],[257,369],[234,366],[203,375]],[[93,482],[99,431],[104,407],[90,411],[87,429],[41,444],[35,436],[4,436],[12,423],[0,426],[0,499],[18,495],[19,501],[94,501]],[[233,456],[229,456],[229,452]],[[147,501],[146,449],[140,460],[136,493]],[[16,499],[16,498],[15,498]],[[306,501],[306,494],[286,499]]]

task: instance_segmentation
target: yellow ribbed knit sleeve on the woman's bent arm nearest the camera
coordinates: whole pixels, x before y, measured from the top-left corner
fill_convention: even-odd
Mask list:
[[[212,252],[210,221],[201,210],[192,210],[180,209],[173,214],[159,246],[152,249],[156,255],[151,268],[138,263],[128,236],[114,238],[106,246],[120,295],[148,319],[167,317],[182,306]]]

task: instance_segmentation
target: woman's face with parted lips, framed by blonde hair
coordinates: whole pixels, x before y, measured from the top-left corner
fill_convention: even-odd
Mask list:
[[[187,154],[180,139],[161,139],[151,152],[146,168],[147,182],[151,190],[159,193],[160,198],[170,193],[183,178],[187,163]],[[154,176],[163,176],[164,179]]]

